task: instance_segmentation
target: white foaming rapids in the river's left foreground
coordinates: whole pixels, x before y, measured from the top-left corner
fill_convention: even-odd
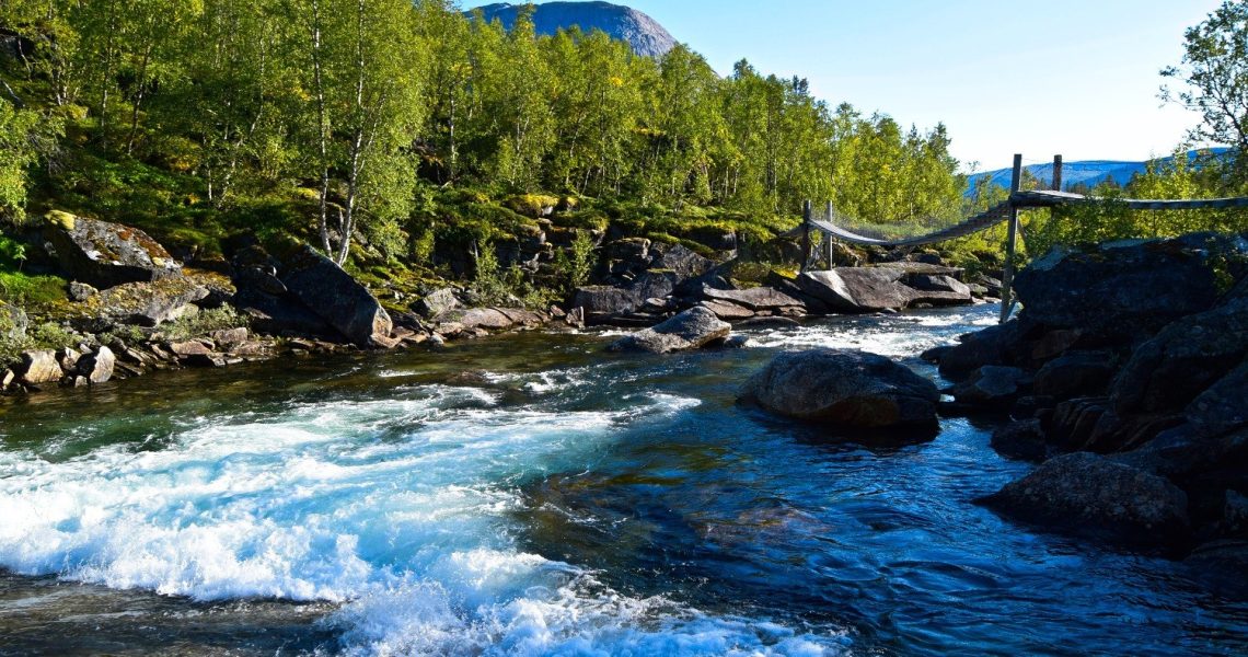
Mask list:
[[[839,651],[840,636],[630,597],[518,545],[519,485],[589,468],[625,428],[698,403],[644,393],[578,412],[419,386],[188,418],[156,451],[0,451],[0,567],[200,601],[331,601],[323,623],[353,655]]]

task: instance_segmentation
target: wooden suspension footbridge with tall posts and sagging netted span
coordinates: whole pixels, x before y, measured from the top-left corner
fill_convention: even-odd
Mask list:
[[[1018,225],[1018,211],[1037,207],[1055,209],[1071,205],[1104,202],[1103,199],[1094,196],[1062,191],[1061,155],[1053,157],[1053,177],[1051,189],[1025,191],[1021,186],[1022,155],[1015,155],[1013,174],[1010,180],[1010,196],[1005,201],[956,224],[943,227],[934,227],[929,232],[907,237],[866,235],[869,231],[849,227],[852,226],[854,222],[847,217],[839,215],[831,204],[827,204],[826,211],[822,212],[821,216],[815,216],[815,211],[810,201],[806,201],[804,221],[800,229],[802,231],[802,251],[805,255],[802,269],[805,269],[805,265],[811,261],[814,255],[811,240],[814,232],[821,232],[824,235],[824,242],[829,249],[829,266],[831,266],[831,244],[834,241],[855,244],[859,246],[881,246],[887,249],[917,247],[966,237],[967,235],[991,229],[997,224],[1008,222],[1008,236],[1006,237],[1006,265],[1001,277],[1001,321],[1005,322],[1010,319],[1016,304],[1011,284],[1013,279],[1015,251],[1017,249],[1018,235],[1021,232],[1021,226]],[[1113,202],[1121,207],[1126,207],[1127,210],[1224,210],[1233,207],[1248,207],[1248,197],[1183,200],[1116,199]]]

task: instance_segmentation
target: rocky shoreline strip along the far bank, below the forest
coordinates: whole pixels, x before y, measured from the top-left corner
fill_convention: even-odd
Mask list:
[[[613,345],[625,351],[740,346],[731,324],[786,324],[809,316],[895,312],[981,302],[1000,284],[931,261],[832,267],[792,279],[771,272],[763,285],[731,282],[736,261],[704,257],[681,245],[599,235],[597,280],[560,305],[533,310],[483,305],[464,287],[434,287],[416,302],[383,306],[378,296],[307,245],[271,252],[258,244],[228,261],[178,264],[141,230],[51,212],[26,236],[34,264],[69,282],[59,317],[81,337],[59,350],[26,350],[0,362],[0,392],[91,386],[178,367],[225,367],[288,355],[429,347],[505,331],[587,326],[650,328]],[[30,320],[0,305],[10,335]],[[170,331],[178,321],[218,312],[210,330]],[[698,321],[688,321],[690,314]],[[701,322],[699,326],[698,322]],[[664,322],[680,328],[663,330]],[[658,333],[654,333],[658,331]],[[673,337],[680,333],[683,337]],[[663,336],[646,340],[646,336]]]

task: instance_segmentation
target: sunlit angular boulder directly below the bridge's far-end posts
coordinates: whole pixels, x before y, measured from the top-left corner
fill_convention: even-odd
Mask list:
[[[836,267],[797,276],[802,292],[839,312],[876,312],[904,309],[915,291],[901,284],[905,272],[896,267]]]

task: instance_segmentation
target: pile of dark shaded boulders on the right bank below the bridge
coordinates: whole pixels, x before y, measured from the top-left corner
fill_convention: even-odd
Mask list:
[[[1002,326],[925,353],[955,412],[1003,418],[992,446],[1042,462],[982,500],[1132,546],[1248,562],[1248,236],[1055,251]]]

